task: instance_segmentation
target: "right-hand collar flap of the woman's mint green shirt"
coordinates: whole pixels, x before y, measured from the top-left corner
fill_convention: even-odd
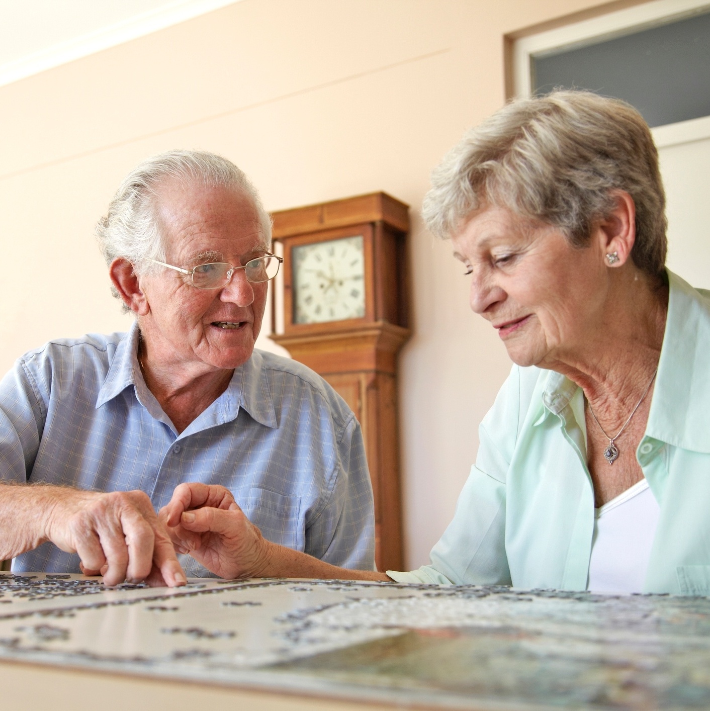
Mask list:
[[[710,453],[710,292],[668,272],[669,296],[661,357],[646,436]]]

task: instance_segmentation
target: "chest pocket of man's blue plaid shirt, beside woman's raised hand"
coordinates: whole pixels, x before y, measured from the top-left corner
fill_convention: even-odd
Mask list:
[[[301,497],[284,496],[256,486],[235,494],[247,518],[272,543],[295,550],[305,546],[305,527],[301,522]]]

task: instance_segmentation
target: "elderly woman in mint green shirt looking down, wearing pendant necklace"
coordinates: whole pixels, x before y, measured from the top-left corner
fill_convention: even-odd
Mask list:
[[[710,301],[664,267],[640,114],[586,92],[512,102],[433,182],[426,223],[515,365],[431,565],[389,577],[709,593]],[[235,574],[387,579],[284,556],[242,523]]]

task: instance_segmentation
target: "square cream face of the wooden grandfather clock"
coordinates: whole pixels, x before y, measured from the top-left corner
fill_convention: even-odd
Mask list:
[[[301,245],[294,260],[294,324],[365,316],[365,250],[362,235]]]

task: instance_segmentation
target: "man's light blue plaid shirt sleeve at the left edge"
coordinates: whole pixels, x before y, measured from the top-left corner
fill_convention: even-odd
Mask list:
[[[0,381],[0,481],[28,481],[45,417],[36,378],[20,358]]]

